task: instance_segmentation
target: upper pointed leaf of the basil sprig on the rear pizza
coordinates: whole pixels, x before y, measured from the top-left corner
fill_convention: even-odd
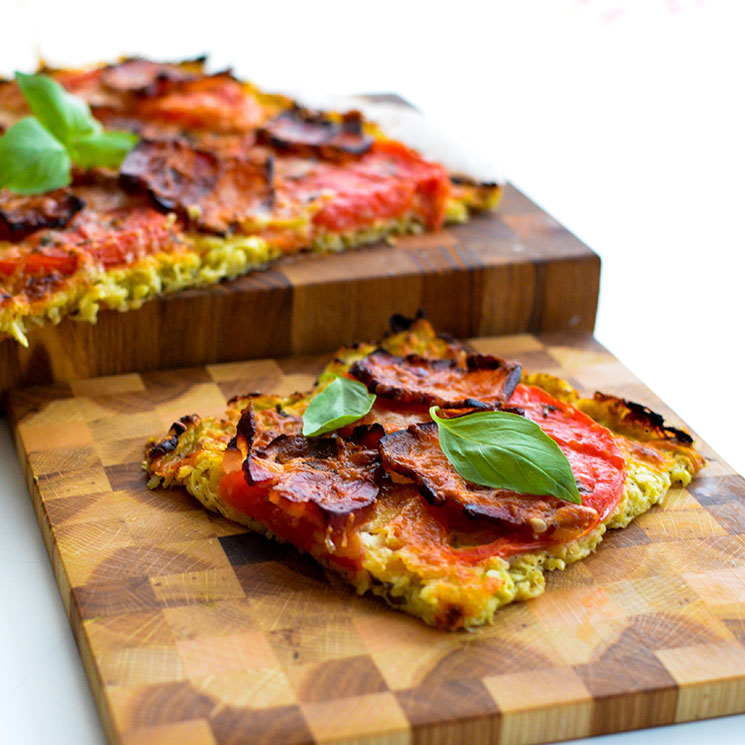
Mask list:
[[[16,81],[34,116],[60,142],[101,132],[88,104],[68,93],[56,80],[45,75],[16,72]]]

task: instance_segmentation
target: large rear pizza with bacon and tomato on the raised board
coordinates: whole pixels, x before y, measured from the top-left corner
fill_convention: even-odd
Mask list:
[[[44,70],[107,130],[118,170],[74,168],[45,194],[0,188],[0,339],[95,321],[300,251],[343,251],[492,209],[497,183],[451,176],[359,111],[318,112],[204,60]],[[0,80],[0,135],[29,113]],[[2,181],[0,180],[0,184]]]

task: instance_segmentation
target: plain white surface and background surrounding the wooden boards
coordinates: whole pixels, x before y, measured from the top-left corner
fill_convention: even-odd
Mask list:
[[[34,67],[37,52],[73,64],[211,51],[217,66],[269,88],[400,92],[478,143],[601,255],[597,337],[745,472],[737,0],[247,7],[6,0],[0,72]],[[101,745],[4,420],[0,499],[0,742]],[[743,725],[731,717],[592,744],[735,745]]]

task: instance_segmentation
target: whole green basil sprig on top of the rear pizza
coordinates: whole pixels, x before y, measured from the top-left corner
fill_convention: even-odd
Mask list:
[[[0,187],[43,194],[70,183],[72,164],[117,168],[137,144],[131,132],[104,132],[88,104],[45,75],[16,73],[33,116],[0,137]]]

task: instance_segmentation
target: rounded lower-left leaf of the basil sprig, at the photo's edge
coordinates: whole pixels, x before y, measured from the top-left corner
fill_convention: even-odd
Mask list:
[[[43,194],[69,183],[70,156],[38,120],[21,119],[0,137],[0,187]]]

